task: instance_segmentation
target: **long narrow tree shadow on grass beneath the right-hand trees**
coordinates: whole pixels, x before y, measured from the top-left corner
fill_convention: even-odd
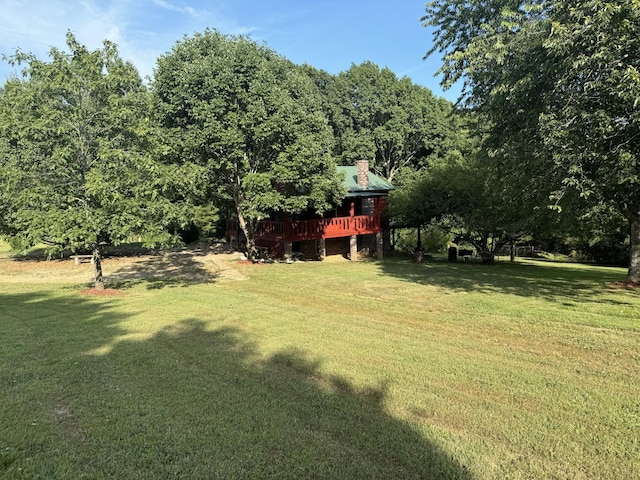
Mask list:
[[[434,285],[458,292],[506,293],[521,297],[545,298],[572,302],[596,297],[611,284],[621,280],[616,269],[598,267],[562,268],[544,263],[449,263],[430,261],[415,264],[408,260],[385,260],[380,263],[383,274],[422,285]],[[630,292],[640,297],[640,292]],[[606,300],[606,303],[630,305],[629,302]]]

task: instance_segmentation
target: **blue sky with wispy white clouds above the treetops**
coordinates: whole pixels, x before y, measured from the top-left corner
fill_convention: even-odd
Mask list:
[[[434,77],[439,55],[423,60],[431,33],[423,27],[423,0],[2,0],[0,53],[17,47],[45,59],[64,48],[67,30],[87,47],[118,44],[143,76],[184,35],[207,27],[249,35],[289,60],[336,74],[370,60],[399,77],[455,101]],[[0,62],[0,82],[11,73]]]

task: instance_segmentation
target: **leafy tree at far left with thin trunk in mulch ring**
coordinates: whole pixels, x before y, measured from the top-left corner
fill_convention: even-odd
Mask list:
[[[173,243],[184,179],[157,161],[149,96],[116,45],[90,51],[69,33],[67,47],[51,49],[49,61],[9,58],[24,69],[0,95],[3,233],[17,248],[90,251],[103,288],[103,245],[133,234]]]

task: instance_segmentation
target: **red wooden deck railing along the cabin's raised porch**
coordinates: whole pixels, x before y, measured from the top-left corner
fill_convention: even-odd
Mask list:
[[[380,218],[377,215],[320,218],[316,220],[297,220],[292,222],[262,220],[258,223],[256,239],[276,237],[288,242],[296,242],[317,240],[320,238],[366,235],[379,231],[381,231],[381,224]],[[227,221],[227,235],[238,236],[237,220],[231,219]]]

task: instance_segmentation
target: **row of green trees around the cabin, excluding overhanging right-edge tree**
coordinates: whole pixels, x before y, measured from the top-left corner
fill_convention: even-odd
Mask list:
[[[373,63],[331,75],[213,30],[157,59],[150,85],[113,43],[90,51],[71,33],[47,60],[9,61],[23,75],[0,89],[0,233],[17,250],[93,252],[98,288],[103,245],[176,245],[220,234],[227,215],[252,257],[259,220],[326,212],[345,193],[335,166],[362,158],[396,185],[396,226],[486,258],[620,228],[606,212],[559,217],[530,172],[505,176],[487,155],[483,117]]]

